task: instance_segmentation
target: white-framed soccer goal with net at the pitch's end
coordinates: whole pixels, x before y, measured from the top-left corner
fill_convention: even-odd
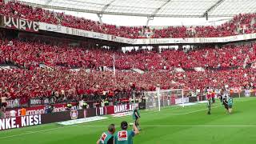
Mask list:
[[[144,92],[146,99],[146,110],[161,110],[162,107],[177,105],[188,102],[184,98],[183,89],[159,90]]]

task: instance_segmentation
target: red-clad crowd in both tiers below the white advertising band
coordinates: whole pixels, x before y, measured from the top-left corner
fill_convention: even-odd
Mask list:
[[[8,97],[49,97],[53,93],[73,98],[75,95],[95,94],[109,91],[130,91],[130,83],[137,90],[155,90],[186,86],[203,90],[206,86],[230,87],[254,83],[256,70],[242,69],[244,62],[255,62],[256,46],[227,45],[218,49],[205,48],[183,52],[165,50],[122,53],[112,50],[86,50],[84,47],[63,44],[46,45],[42,42],[24,42],[14,39],[0,41],[0,62],[13,63],[21,69],[0,70],[1,94]],[[115,54],[116,75],[110,71],[96,71],[99,66],[113,66]],[[44,63],[54,70],[39,68]],[[174,73],[174,67],[235,68],[234,70],[186,71]],[[74,72],[71,67],[82,70]],[[166,70],[164,70],[166,67]],[[24,69],[25,68],[25,69]],[[90,68],[90,73],[84,68]],[[130,68],[146,70],[145,74],[129,71]],[[126,72],[122,70],[128,70]],[[173,85],[175,82],[178,85]]]

